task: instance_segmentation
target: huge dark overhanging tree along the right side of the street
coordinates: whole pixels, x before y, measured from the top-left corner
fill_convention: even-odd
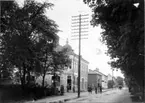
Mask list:
[[[91,24],[101,25],[103,42],[125,76],[143,87],[144,78],[144,1],[84,0],[93,10]],[[126,77],[127,77],[126,76]]]

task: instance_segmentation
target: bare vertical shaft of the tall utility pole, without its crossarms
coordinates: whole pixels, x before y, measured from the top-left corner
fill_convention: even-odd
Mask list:
[[[80,69],[81,69],[81,14],[79,15],[79,60],[78,60],[78,98],[80,97]]]

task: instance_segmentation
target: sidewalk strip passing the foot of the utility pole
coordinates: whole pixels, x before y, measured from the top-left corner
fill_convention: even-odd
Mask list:
[[[105,90],[103,90],[103,92],[106,92],[109,90],[112,90],[112,89],[105,89]],[[88,95],[89,95],[88,92],[81,92],[80,98],[88,96]],[[25,103],[34,103],[34,102],[35,103],[62,103],[62,102],[69,101],[72,99],[77,99],[77,98],[78,98],[77,92],[76,93],[65,93],[63,96],[49,96],[49,97],[39,99],[36,101],[27,101]]]

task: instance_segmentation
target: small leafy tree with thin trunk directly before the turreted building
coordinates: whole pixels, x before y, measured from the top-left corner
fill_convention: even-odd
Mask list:
[[[62,47],[61,49],[55,49],[52,53],[52,75],[53,75],[53,87],[54,93],[56,93],[56,81],[58,75],[63,73],[65,69],[70,67],[71,59],[69,57],[70,49],[68,47]],[[59,74],[58,74],[59,73]]]

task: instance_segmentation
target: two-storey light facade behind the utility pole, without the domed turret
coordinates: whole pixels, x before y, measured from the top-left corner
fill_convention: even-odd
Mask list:
[[[69,91],[77,91],[78,89],[78,55],[72,53],[70,55],[71,58],[71,67],[69,67],[66,71],[64,71],[63,81],[67,81],[64,86],[68,86]],[[89,62],[86,61],[81,57],[81,68],[80,68],[80,90],[87,91],[88,85],[88,64]]]

